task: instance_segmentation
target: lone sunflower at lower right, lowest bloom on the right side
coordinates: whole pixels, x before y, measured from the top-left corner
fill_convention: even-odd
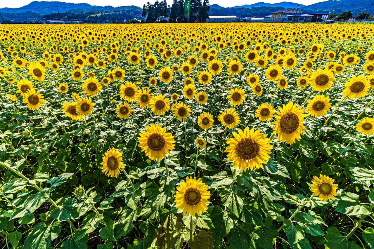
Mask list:
[[[335,180],[325,175],[313,176],[311,190],[315,196],[320,200],[333,200],[335,199],[338,184],[333,184]]]

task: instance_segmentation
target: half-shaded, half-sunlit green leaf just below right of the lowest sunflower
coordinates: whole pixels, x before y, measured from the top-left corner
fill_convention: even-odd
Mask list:
[[[230,232],[231,228],[234,227],[234,222],[229,215],[227,215],[220,206],[214,206],[210,215],[212,223],[214,225],[214,233],[218,240],[223,239]]]

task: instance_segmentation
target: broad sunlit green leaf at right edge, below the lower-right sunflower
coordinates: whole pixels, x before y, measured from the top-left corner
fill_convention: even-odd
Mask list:
[[[361,205],[358,194],[346,192],[339,197],[335,211],[346,215],[370,215],[371,208]]]

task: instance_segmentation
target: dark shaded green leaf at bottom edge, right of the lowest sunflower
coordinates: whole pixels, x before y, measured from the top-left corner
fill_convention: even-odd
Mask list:
[[[227,240],[236,249],[248,249],[251,246],[251,226],[246,223],[236,225],[227,235]]]

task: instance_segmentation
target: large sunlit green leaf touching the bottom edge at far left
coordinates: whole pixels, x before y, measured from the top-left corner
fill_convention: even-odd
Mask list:
[[[50,243],[58,237],[60,232],[61,224],[57,221],[50,225],[46,225],[43,222],[38,223],[25,239],[24,248],[47,249]]]

